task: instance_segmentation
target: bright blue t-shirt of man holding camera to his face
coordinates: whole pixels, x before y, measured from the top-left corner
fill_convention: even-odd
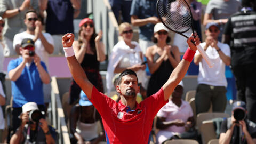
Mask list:
[[[18,67],[22,58],[11,60],[8,64],[8,73],[10,70]],[[42,67],[47,71],[44,62],[41,61]],[[30,67],[22,70],[20,77],[12,84],[13,107],[22,107],[27,102],[36,102],[37,105],[44,104],[43,83],[34,62]]]

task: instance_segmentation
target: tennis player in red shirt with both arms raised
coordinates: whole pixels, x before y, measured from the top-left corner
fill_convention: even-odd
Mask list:
[[[62,37],[63,50],[68,61],[68,67],[76,83],[99,111],[107,143],[149,143],[149,134],[157,111],[168,102],[175,86],[179,84],[187,73],[189,64],[197,50],[191,40],[196,45],[200,43],[196,33],[194,36],[191,35],[188,38],[189,48],[179,65],[173,70],[168,81],[157,93],[143,100],[140,104],[136,102],[136,95],[140,87],[134,71],[124,70],[119,75],[116,91],[120,94],[121,101],[116,103],[111,98],[100,93],[88,81],[73,51],[74,35],[66,34]]]

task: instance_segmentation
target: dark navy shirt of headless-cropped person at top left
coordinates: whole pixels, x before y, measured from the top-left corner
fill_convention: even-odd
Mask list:
[[[47,33],[51,35],[74,33],[74,8],[70,0],[49,0],[46,12]]]

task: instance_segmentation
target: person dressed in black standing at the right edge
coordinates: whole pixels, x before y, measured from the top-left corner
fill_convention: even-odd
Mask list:
[[[231,69],[236,79],[237,99],[246,102],[249,120],[256,122],[256,12],[254,1],[243,0],[242,10],[229,18],[223,31],[223,43],[231,48]]]

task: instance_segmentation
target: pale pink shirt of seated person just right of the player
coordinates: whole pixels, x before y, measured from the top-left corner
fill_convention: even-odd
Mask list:
[[[166,121],[173,121],[175,119],[181,119],[185,123],[187,122],[189,117],[193,116],[193,110],[190,107],[189,103],[182,100],[181,106],[178,107],[171,100],[164,105],[157,113],[158,117],[165,117]],[[170,126],[163,131],[171,131],[171,132],[185,132],[184,126]]]

